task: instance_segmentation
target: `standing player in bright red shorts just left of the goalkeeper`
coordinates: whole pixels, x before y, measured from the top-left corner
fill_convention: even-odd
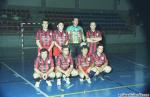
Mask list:
[[[64,24],[62,22],[59,22],[57,25],[58,30],[54,31],[55,35],[55,47],[53,49],[53,55],[55,56],[55,60],[57,60],[57,57],[61,54],[62,45],[68,45],[68,34],[65,33]]]

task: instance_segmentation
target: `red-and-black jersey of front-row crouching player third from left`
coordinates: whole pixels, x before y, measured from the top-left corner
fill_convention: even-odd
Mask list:
[[[93,59],[91,56],[87,55],[86,57],[79,55],[77,59],[77,66],[83,68],[90,67],[93,64]]]

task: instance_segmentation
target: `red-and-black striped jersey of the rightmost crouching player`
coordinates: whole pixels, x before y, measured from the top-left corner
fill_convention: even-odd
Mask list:
[[[95,53],[93,56],[93,60],[94,65],[97,67],[104,65],[104,63],[108,61],[104,53],[102,53],[100,56]]]

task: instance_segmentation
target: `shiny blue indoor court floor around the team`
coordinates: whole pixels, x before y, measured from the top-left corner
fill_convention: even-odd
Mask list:
[[[52,87],[41,81],[40,88],[35,88],[32,75],[36,48],[0,48],[0,97],[123,97],[144,93],[150,80],[146,46],[126,44],[106,49],[113,70],[104,80],[93,78],[88,84],[75,77],[70,85],[63,81],[58,87],[54,79]]]

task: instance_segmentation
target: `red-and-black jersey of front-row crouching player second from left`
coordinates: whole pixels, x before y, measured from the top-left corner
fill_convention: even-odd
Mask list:
[[[70,65],[73,65],[73,60],[70,54],[67,56],[67,58],[65,58],[62,54],[58,57],[57,66],[59,66],[61,69],[67,70]]]

